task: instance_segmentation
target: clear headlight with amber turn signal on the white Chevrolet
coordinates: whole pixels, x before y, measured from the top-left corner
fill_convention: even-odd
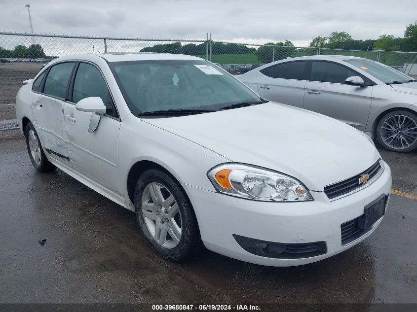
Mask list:
[[[224,164],[208,172],[221,193],[257,201],[299,202],[313,198],[297,179],[248,165]]]

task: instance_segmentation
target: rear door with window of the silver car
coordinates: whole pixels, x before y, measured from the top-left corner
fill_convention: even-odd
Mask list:
[[[266,100],[304,106],[306,62],[279,63],[258,72],[259,95]]]

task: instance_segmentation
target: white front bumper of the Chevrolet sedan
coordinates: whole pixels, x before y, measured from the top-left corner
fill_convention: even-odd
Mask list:
[[[366,239],[377,228],[380,218],[369,232],[342,245],[341,224],[364,213],[364,207],[381,194],[391,191],[391,170],[366,188],[331,202],[324,192],[310,191],[312,202],[269,203],[227,196],[184,184],[194,207],[204,245],[217,253],[246,262],[267,266],[296,266],[328,258]],[[276,243],[325,242],[327,252],[301,259],[276,259],[244,250],[233,238],[239,235]]]

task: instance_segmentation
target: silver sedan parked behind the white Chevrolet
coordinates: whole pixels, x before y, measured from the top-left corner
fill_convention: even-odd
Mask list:
[[[266,100],[339,119],[392,151],[417,148],[417,80],[350,56],[280,60],[239,75]]]

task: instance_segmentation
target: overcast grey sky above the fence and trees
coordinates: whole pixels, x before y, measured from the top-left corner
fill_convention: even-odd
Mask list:
[[[354,39],[403,36],[416,0],[0,0],[0,31],[307,45],[345,31]]]

